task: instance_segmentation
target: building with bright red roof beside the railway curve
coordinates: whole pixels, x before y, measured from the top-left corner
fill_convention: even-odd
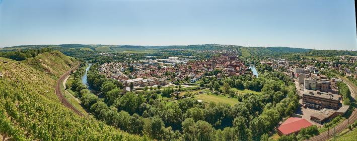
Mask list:
[[[277,133],[279,135],[289,135],[291,133],[298,133],[301,128],[307,128],[311,125],[312,123],[310,123],[304,118],[290,117],[277,128]]]

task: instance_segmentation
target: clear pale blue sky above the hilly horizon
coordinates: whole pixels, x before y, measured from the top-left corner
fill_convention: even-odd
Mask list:
[[[230,44],[357,50],[352,0],[0,0],[0,47]]]

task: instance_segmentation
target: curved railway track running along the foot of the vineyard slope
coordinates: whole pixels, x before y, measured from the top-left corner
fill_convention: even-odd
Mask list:
[[[73,67],[72,69],[70,69],[70,70],[68,70],[66,73],[64,73],[61,77],[59,77],[59,79],[57,80],[57,83],[56,83],[55,92],[56,92],[57,97],[59,98],[59,100],[62,102],[62,104],[63,104],[64,106],[66,106],[66,107],[69,108],[69,109],[72,109],[72,110],[75,111],[78,115],[83,116],[83,114],[82,114],[78,109],[76,109],[72,104],[70,104],[70,103],[67,101],[67,99],[64,97],[64,95],[62,94],[62,91],[61,91],[62,81],[70,75],[70,72],[71,72],[71,71],[77,70],[77,68],[78,68],[79,66],[80,66],[80,64],[76,65],[75,67]]]

